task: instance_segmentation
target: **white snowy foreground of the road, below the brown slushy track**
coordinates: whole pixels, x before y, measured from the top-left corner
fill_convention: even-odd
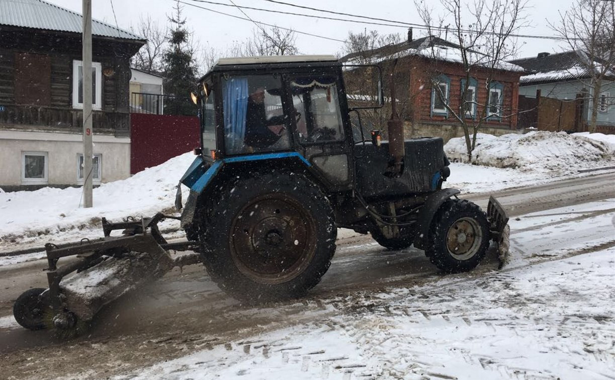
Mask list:
[[[375,292],[114,379],[612,379],[614,263],[610,248]]]

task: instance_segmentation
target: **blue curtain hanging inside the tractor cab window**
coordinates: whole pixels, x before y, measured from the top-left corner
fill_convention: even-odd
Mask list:
[[[248,109],[248,79],[231,78],[224,82],[224,146],[227,154],[244,149],[245,114]]]

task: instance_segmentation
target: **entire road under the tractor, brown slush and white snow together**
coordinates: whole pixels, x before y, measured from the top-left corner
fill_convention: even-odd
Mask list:
[[[510,191],[509,205],[530,199],[520,192]],[[492,256],[443,276],[422,251],[386,251],[350,235],[323,282],[295,303],[241,306],[194,266],[108,307],[76,341],[3,318],[6,374],[606,379],[615,370],[615,199],[575,199],[513,218],[513,259],[501,272]],[[0,267],[0,287],[23,288],[22,276],[44,282],[42,266]]]

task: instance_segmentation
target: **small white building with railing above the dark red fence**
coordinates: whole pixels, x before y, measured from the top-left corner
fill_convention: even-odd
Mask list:
[[[130,70],[132,71],[130,77],[130,112],[162,115],[164,113],[162,87],[164,77],[137,68]]]

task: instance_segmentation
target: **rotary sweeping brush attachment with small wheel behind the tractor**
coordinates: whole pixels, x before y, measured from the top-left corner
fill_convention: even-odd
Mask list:
[[[161,213],[119,223],[103,218],[102,239],[63,245],[47,243],[49,288],[23,293],[15,301],[15,320],[30,330],[75,330],[127,291],[159,279],[175,266],[199,263],[198,253],[171,258],[171,250],[198,251],[198,245],[191,241],[167,242],[157,227],[167,218],[178,219]],[[122,236],[111,236],[115,230],[123,230]],[[58,266],[60,259],[69,257],[77,260]],[[67,277],[73,272],[76,273]]]

